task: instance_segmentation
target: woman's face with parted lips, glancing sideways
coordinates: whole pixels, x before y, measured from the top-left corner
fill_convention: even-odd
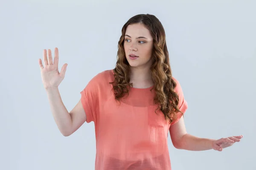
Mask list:
[[[142,24],[132,24],[125,32],[125,57],[131,67],[150,68],[153,38],[149,30]]]

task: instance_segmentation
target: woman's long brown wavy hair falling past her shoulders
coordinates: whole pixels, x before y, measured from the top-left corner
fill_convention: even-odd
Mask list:
[[[178,108],[179,97],[174,91],[176,82],[172,79],[165,31],[162,23],[152,14],[135,15],[122,27],[122,35],[118,42],[116,67],[113,69],[115,80],[110,82],[113,85],[112,90],[115,99],[120,102],[122,97],[129,94],[129,89],[132,87],[132,83],[130,83],[130,65],[125,57],[124,40],[127,26],[135,23],[143,23],[154,39],[152,50],[153,64],[150,68],[154,82],[152,89],[156,93],[154,103],[158,105],[157,109],[160,108],[163,112],[165,119],[171,123],[177,119],[177,112],[181,112]]]

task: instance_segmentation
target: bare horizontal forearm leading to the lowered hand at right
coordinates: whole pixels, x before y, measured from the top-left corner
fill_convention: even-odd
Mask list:
[[[180,139],[177,148],[193,151],[210,150],[212,149],[213,141],[215,141],[215,139],[199,138],[187,133]]]

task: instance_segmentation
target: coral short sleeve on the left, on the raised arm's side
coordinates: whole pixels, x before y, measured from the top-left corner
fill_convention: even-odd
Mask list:
[[[87,118],[86,122],[95,122],[96,112],[99,106],[98,78],[93,77],[80,94],[81,103]]]

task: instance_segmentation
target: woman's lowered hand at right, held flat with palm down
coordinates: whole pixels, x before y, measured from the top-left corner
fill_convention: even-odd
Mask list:
[[[225,147],[232,146],[235,142],[240,142],[243,135],[221,138],[212,142],[212,149],[222,151]]]

